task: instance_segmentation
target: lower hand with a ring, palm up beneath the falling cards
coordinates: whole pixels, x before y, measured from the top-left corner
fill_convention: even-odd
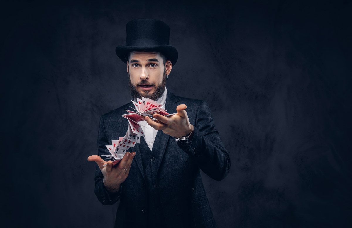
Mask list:
[[[120,190],[120,184],[127,178],[135,155],[136,152],[126,152],[125,156],[116,167],[112,166],[112,161],[108,161],[107,165],[103,167],[104,163],[102,163],[102,161],[104,160],[98,155],[89,156],[88,161],[95,161],[96,164],[98,164],[104,176],[103,183],[105,188],[109,192],[115,193]]]

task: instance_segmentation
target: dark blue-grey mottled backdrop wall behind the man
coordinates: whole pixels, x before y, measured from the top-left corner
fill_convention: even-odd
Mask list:
[[[99,117],[130,100],[114,51],[125,24],[156,18],[179,52],[168,89],[209,103],[231,156],[224,180],[202,175],[218,226],[351,225],[351,6],[3,2],[5,224],[112,227],[117,205],[96,199],[87,157]]]

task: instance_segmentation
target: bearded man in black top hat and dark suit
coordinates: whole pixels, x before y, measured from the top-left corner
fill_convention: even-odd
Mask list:
[[[90,156],[88,160],[98,164],[95,194],[102,204],[120,200],[115,227],[216,227],[200,169],[221,180],[230,159],[210,109],[204,101],[177,97],[165,88],[178,58],[169,45],[168,25],[136,19],[127,23],[126,31],[126,45],[118,46],[116,53],[127,64],[132,97],[156,100],[177,114],[154,114],[157,121],[145,117],[146,137],[116,167],[111,161],[103,167],[99,156]],[[125,109],[127,104],[101,116],[99,155],[109,154],[105,145],[126,133],[128,122],[121,117]]]

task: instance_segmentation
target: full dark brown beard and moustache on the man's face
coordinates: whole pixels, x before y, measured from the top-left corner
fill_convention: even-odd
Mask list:
[[[137,85],[140,85],[140,84],[148,84],[148,85],[152,85],[155,87],[154,89],[154,92],[150,92],[148,90],[146,90],[145,93],[140,93],[138,90],[137,90],[137,85],[133,85],[132,82],[131,82],[131,77],[130,77],[130,74],[128,74],[128,78],[130,79],[129,80],[129,84],[130,84],[130,91],[131,91],[131,96],[133,98],[139,98],[139,99],[142,99],[142,97],[145,97],[145,98],[149,98],[151,100],[158,100],[164,93],[165,91],[165,85],[166,85],[166,72],[164,71],[164,75],[163,75],[163,80],[160,84],[158,85],[155,85],[155,84],[150,84],[147,80],[142,80],[140,81]]]

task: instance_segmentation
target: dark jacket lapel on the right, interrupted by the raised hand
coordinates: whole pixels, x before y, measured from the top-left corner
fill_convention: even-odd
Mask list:
[[[177,97],[168,90],[168,96],[166,97],[166,104],[165,104],[165,109],[167,110],[168,113],[176,112],[176,107],[178,105],[176,103],[177,101],[179,101]],[[157,171],[159,170],[161,161],[164,157],[164,153],[166,150],[166,146],[168,145],[169,138],[170,138],[170,135],[165,134],[163,131],[158,131],[155,137],[154,145],[158,145],[158,148],[159,148]]]

